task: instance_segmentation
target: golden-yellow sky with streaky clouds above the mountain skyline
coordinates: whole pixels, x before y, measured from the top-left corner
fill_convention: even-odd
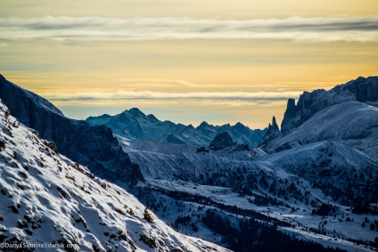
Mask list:
[[[0,73],[70,118],[281,122],[378,69],[376,0],[2,0]]]

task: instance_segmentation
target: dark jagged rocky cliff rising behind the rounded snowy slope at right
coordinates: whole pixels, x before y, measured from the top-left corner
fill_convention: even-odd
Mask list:
[[[378,77],[358,77],[344,85],[337,85],[329,91],[318,89],[311,93],[304,92],[300,95],[297,104],[294,99],[289,99],[281,131],[283,134],[288,134],[317,111],[349,101],[364,102],[377,107]]]

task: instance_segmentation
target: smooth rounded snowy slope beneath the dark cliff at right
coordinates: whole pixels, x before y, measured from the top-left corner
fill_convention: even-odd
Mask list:
[[[378,108],[362,102],[341,102],[327,107],[290,133],[268,142],[266,149],[275,151],[325,140],[341,142],[376,156]]]

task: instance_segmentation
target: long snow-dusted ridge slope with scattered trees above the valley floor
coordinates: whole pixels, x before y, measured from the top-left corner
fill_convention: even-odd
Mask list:
[[[378,178],[378,157],[341,142],[297,143],[274,154],[236,147],[199,152],[188,145],[132,142],[124,149],[139,164],[147,181],[181,179],[285,199],[288,195],[284,191],[291,187],[285,181],[296,176],[350,207],[356,199],[375,200],[374,189],[367,187]],[[305,191],[298,193],[300,200],[311,201]]]

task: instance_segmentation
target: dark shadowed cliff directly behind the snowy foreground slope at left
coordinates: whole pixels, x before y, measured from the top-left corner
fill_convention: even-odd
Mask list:
[[[144,179],[107,126],[90,126],[85,121],[66,118],[44,98],[1,75],[0,98],[12,116],[36,129],[41,137],[55,142],[58,152],[88,167],[95,175],[125,183]]]

